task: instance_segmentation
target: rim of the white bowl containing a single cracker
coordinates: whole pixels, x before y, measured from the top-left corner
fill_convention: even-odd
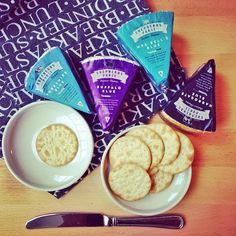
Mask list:
[[[39,191],[47,191],[47,192],[50,192],[50,191],[58,191],[58,190],[62,190],[62,189],[65,189],[67,187],[70,187],[71,185],[73,185],[74,183],[76,183],[76,181],[78,181],[82,176],[83,174],[86,172],[86,170],[88,169],[88,166],[89,164],[91,163],[91,160],[92,160],[92,157],[93,157],[93,151],[94,151],[94,139],[93,139],[93,135],[92,135],[92,132],[91,132],[91,129],[87,123],[87,121],[84,119],[84,117],[78,112],[78,116],[83,120],[84,124],[87,126],[88,130],[90,130],[89,132],[89,139],[90,139],[90,142],[92,144],[92,148],[90,149],[90,153],[88,154],[89,156],[89,160],[88,160],[88,165],[87,167],[83,168],[82,171],[81,171],[81,175],[79,176],[75,176],[70,182],[64,184],[64,185],[60,185],[58,187],[37,187],[33,184],[30,184],[28,183],[27,181],[23,180],[18,174],[15,173],[14,169],[11,167],[10,163],[9,163],[9,157],[7,157],[6,155],[6,149],[5,147],[7,147],[7,135],[9,133],[9,130],[11,129],[12,125],[14,125],[14,122],[16,121],[16,119],[18,119],[18,117],[23,114],[26,110],[30,109],[31,107],[34,107],[34,106],[37,106],[37,105],[40,105],[40,104],[55,104],[55,105],[60,105],[60,106],[63,106],[67,109],[71,109],[73,111],[76,111],[75,109],[73,109],[72,107],[69,107],[67,105],[64,105],[62,103],[58,103],[58,102],[54,102],[54,101],[48,101],[48,100],[43,100],[43,101],[36,101],[36,102],[32,102],[30,104],[27,104],[25,105],[24,107],[21,107],[18,111],[16,111],[16,113],[10,118],[10,120],[7,122],[6,124],[6,127],[4,129],[4,132],[3,132],[3,138],[2,138],[2,153],[3,153],[3,159],[5,161],[5,164],[8,168],[8,170],[10,171],[10,173],[23,185],[25,185],[26,187],[29,187],[31,189],[34,189],[34,190],[39,190]],[[77,135],[76,135],[77,136]],[[78,138],[78,137],[77,137]]]

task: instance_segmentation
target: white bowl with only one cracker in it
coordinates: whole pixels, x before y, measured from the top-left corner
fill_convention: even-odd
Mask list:
[[[65,166],[49,166],[37,154],[37,134],[51,124],[66,125],[78,138],[76,157]],[[17,180],[33,189],[55,191],[70,186],[85,173],[94,143],[88,124],[77,111],[60,103],[41,101],[14,114],[4,131],[2,146],[6,165]]]

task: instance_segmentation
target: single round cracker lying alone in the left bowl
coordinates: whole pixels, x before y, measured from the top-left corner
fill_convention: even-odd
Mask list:
[[[51,166],[64,166],[71,162],[78,147],[75,133],[63,124],[47,126],[36,138],[36,150],[40,159]]]

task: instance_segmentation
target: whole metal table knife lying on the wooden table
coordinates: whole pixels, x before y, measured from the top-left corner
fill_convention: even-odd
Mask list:
[[[155,216],[115,217],[99,213],[49,213],[26,222],[27,229],[57,227],[101,227],[101,226],[139,226],[181,229],[184,219],[180,215],[166,214]]]

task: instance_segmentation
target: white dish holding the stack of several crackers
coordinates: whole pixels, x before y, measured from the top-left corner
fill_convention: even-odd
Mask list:
[[[111,140],[108,144],[101,162],[101,178],[102,183],[107,192],[108,196],[111,200],[123,210],[137,215],[156,215],[166,212],[176,206],[186,194],[192,176],[192,168],[189,167],[182,173],[175,175],[174,179],[172,180],[171,185],[162,192],[159,193],[149,193],[143,199],[137,201],[124,201],[117,197],[109,188],[108,184],[108,174],[109,174],[109,162],[108,162],[108,151],[113,144],[113,142],[119,138],[120,136],[124,135],[131,129],[136,129],[137,127],[133,127],[123,131],[122,133],[118,134],[115,138]]]

